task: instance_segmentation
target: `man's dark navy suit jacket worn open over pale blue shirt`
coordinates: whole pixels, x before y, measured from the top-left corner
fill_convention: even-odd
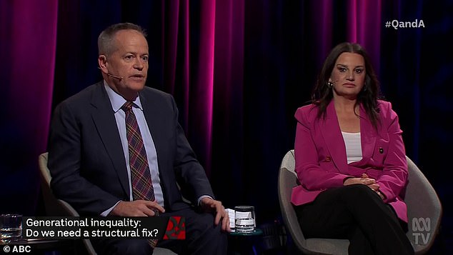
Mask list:
[[[202,195],[214,198],[179,125],[173,97],[149,87],[139,96],[156,146],[166,211],[189,206],[181,194],[193,204]],[[61,102],[49,135],[51,189],[59,199],[82,215],[99,215],[119,200],[129,201],[127,163],[103,82]]]

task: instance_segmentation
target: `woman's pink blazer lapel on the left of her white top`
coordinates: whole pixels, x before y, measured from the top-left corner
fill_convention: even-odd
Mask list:
[[[321,120],[323,121],[323,120]],[[320,125],[322,136],[327,144],[331,160],[342,173],[347,173],[346,147],[339,128],[337,113],[335,112],[334,101],[327,106],[327,116],[324,125]]]

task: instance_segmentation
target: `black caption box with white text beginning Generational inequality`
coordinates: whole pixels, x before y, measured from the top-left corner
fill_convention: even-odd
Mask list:
[[[161,239],[168,217],[24,217],[24,239]]]

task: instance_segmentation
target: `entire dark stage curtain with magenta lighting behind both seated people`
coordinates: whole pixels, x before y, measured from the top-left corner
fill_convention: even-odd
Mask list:
[[[225,206],[256,206],[258,223],[278,219],[277,173],[294,148],[294,112],[343,41],[369,52],[408,156],[449,201],[449,171],[433,159],[449,159],[453,137],[452,9],[453,0],[0,1],[0,212],[34,210],[51,109],[101,80],[96,38],[117,22],[148,31],[146,86],[174,96]],[[424,28],[385,27],[421,19]]]

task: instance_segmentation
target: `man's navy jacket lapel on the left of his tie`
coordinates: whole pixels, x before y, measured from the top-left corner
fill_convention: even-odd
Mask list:
[[[96,86],[91,99],[93,111],[91,112],[96,129],[101,136],[104,148],[110,156],[119,182],[121,183],[124,192],[129,194],[129,177],[126,171],[126,159],[121,146],[118,130],[116,129],[116,120],[109,96],[106,94],[104,84],[101,82]]]

